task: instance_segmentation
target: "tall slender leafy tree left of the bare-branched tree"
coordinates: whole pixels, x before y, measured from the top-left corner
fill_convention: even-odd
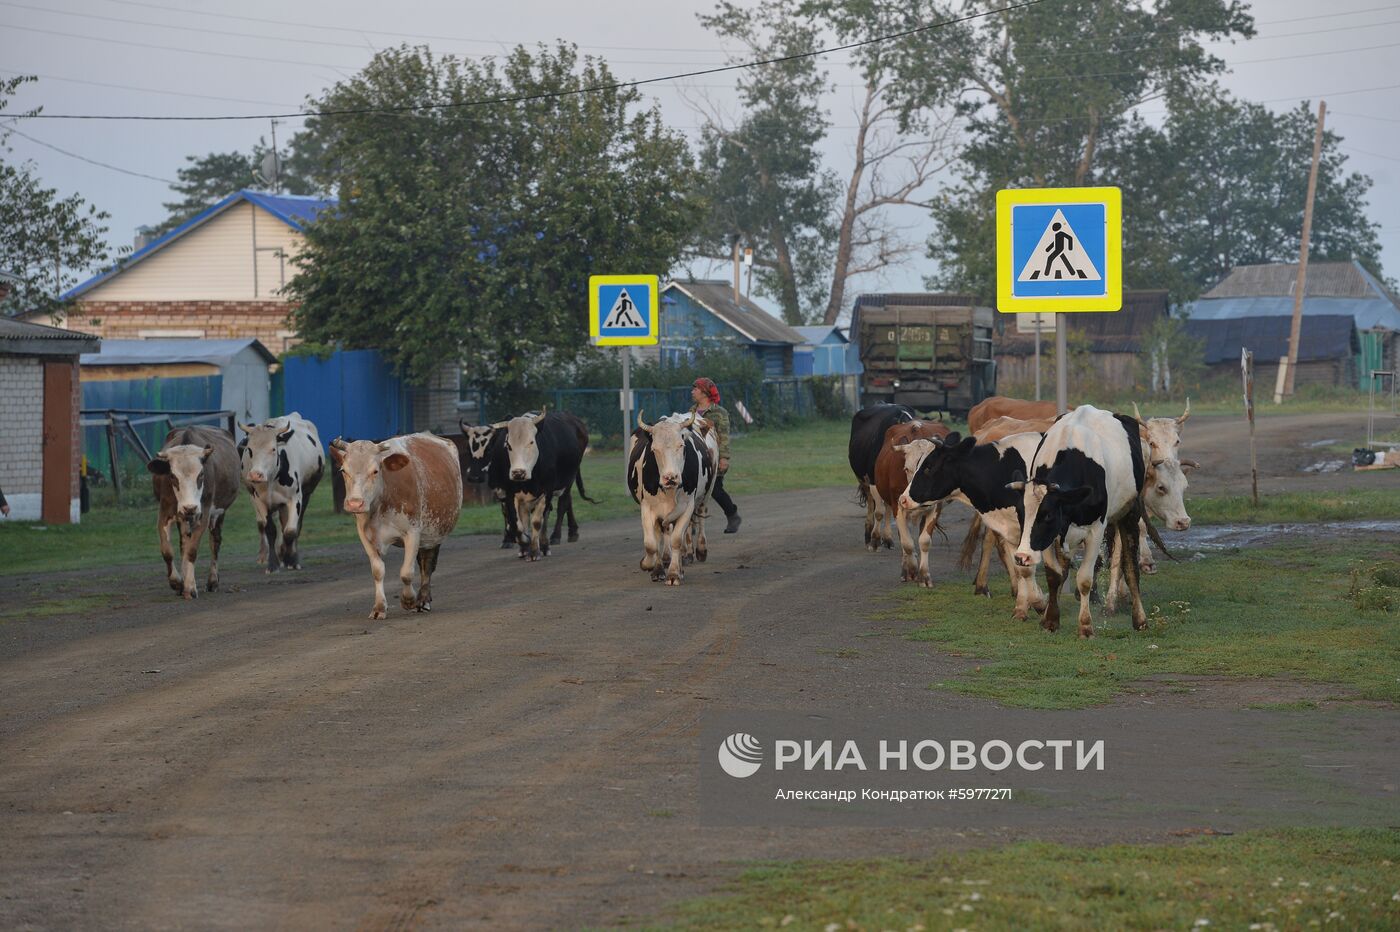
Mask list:
[[[700,22],[738,41],[746,60],[811,52],[818,31],[795,14],[795,0],[753,8],[722,0]],[[710,211],[697,250],[728,259],[735,238],[755,246],[759,292],[778,302],[792,325],[811,322],[826,299],[826,273],[836,230],[837,179],[822,169],[818,143],[827,120],[820,108],[826,73],[816,59],[792,59],[741,73],[745,113],[727,120],[713,105],[697,106],[701,192]]]

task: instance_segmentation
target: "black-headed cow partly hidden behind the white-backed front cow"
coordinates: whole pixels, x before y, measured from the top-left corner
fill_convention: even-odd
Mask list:
[[[941,446],[935,446],[918,463],[900,497],[903,508],[952,497],[977,512],[981,525],[994,535],[997,550],[1011,577],[1011,588],[1016,596],[1012,617],[1016,620],[1025,620],[1029,609],[1039,612],[1046,605],[1044,593],[1036,585],[1035,570],[1019,567],[1012,558],[1021,542],[1022,495],[1007,487],[1025,477],[1039,445],[1037,432],[1012,434],[991,444],[949,434]],[[986,595],[986,589],[981,595]]]

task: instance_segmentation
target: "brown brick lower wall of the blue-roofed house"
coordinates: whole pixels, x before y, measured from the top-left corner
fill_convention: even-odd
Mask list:
[[[140,340],[151,330],[186,330],[206,340],[252,337],[274,354],[300,343],[283,301],[78,301],[64,322],[111,340]]]

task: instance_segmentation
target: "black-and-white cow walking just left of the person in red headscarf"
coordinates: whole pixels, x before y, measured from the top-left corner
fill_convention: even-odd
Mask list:
[[[686,533],[718,474],[715,446],[706,442],[701,430],[694,416],[647,424],[638,410],[627,451],[627,490],[641,505],[641,568],[652,579],[665,574],[668,586],[685,578]],[[696,537],[699,544],[703,528]],[[704,558],[699,553],[696,557]]]

